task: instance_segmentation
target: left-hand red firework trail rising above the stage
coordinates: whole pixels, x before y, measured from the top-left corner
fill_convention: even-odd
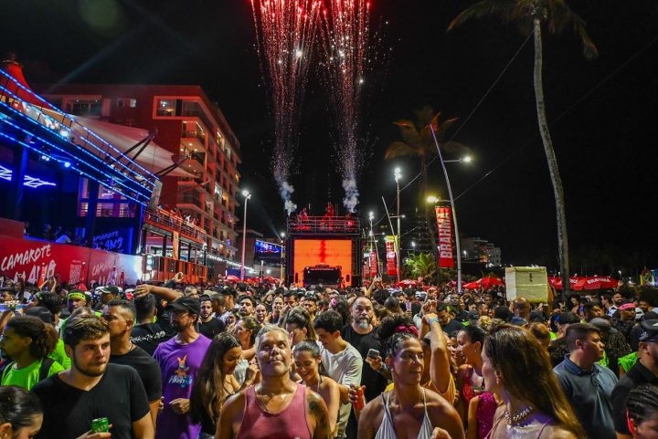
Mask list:
[[[260,69],[271,94],[272,173],[288,214],[297,208],[292,203],[291,165],[321,6],[321,0],[251,0]]]

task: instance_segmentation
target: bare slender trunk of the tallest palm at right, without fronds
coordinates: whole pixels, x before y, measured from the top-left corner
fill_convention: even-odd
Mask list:
[[[569,294],[569,264],[568,264],[568,238],[567,216],[565,214],[564,190],[562,179],[557,168],[557,158],[553,150],[553,141],[548,131],[546,117],[546,104],[544,102],[544,83],[542,80],[542,36],[541,21],[538,17],[533,20],[535,27],[535,99],[539,132],[541,133],[544,152],[547,155],[548,172],[553,183],[553,193],[556,199],[557,211],[557,248],[559,252],[560,272],[562,273],[562,297]]]

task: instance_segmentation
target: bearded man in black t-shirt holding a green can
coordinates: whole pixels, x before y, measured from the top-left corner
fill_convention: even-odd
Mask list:
[[[110,361],[110,330],[92,316],[72,319],[64,330],[71,368],[39,382],[43,426],[38,439],[153,439],[154,426],[142,380],[133,368]],[[110,433],[94,434],[91,421],[107,418]]]

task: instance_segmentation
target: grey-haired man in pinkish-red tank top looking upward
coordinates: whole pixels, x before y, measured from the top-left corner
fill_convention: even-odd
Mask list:
[[[224,402],[217,439],[330,437],[326,404],[317,393],[292,382],[291,358],[290,340],[284,329],[276,325],[260,329],[256,361],[261,381]]]

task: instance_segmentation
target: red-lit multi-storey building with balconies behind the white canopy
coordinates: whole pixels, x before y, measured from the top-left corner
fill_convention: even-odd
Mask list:
[[[179,167],[194,175],[173,177],[164,172],[159,204],[206,231],[209,263],[236,264],[240,144],[218,105],[203,89],[63,84],[49,87],[43,96],[75,116],[154,133],[153,141],[171,152]]]

